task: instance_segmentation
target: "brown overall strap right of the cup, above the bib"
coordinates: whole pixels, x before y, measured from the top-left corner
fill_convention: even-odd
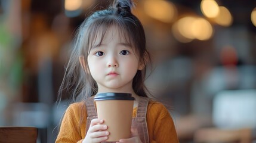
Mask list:
[[[139,98],[137,117],[146,117],[148,104],[149,104],[149,98],[147,98],[147,97]]]

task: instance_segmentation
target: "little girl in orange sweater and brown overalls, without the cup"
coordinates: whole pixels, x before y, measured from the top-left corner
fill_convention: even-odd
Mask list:
[[[132,5],[132,1],[117,0],[79,27],[60,87],[60,94],[71,91],[76,102],[67,108],[56,142],[107,140],[110,133],[104,119],[97,119],[93,102],[94,95],[102,92],[127,92],[135,98],[131,138],[119,142],[178,142],[168,110],[147,98],[144,79],[150,58]]]

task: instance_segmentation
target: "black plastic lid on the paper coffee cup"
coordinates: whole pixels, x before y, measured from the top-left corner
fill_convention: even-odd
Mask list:
[[[129,93],[107,92],[95,95],[94,101],[100,100],[135,100],[135,98]]]

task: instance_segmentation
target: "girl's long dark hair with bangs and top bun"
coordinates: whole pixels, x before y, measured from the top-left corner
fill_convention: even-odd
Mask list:
[[[106,10],[96,11],[82,22],[76,33],[72,54],[60,86],[60,96],[63,91],[71,92],[72,101],[75,102],[97,94],[97,83],[88,70],[87,57],[95,39],[100,37],[102,41],[107,30],[112,27],[117,27],[120,34],[132,45],[141,64],[146,65],[150,60],[146,50],[143,26],[140,20],[131,13],[132,6],[132,1],[116,0]],[[87,69],[82,69],[79,63],[81,55],[84,56]],[[132,82],[135,94],[141,97],[147,97],[148,91],[144,85],[145,77],[146,66],[143,70],[137,71]]]

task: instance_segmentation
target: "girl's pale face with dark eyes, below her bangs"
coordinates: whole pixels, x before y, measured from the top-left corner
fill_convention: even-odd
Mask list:
[[[104,35],[95,39],[88,55],[91,76],[97,82],[98,92],[129,92],[137,70],[142,70],[139,58],[127,43],[118,28],[111,27]]]

